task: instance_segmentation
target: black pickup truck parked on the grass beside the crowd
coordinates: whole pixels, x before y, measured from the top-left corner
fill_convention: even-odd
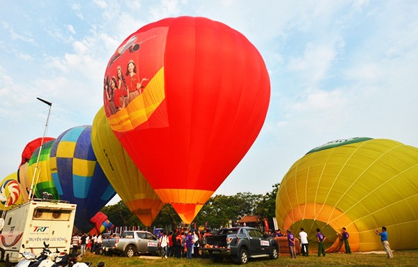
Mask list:
[[[212,261],[231,257],[237,264],[247,264],[249,258],[279,257],[277,241],[252,227],[220,229],[216,234],[206,236],[206,245],[200,250],[208,252]]]

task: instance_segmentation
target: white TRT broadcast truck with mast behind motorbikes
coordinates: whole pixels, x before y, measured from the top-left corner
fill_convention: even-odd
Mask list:
[[[11,266],[22,257],[24,247],[34,254],[49,250],[70,252],[72,227],[77,205],[67,201],[33,199],[6,212],[0,234],[0,247]]]

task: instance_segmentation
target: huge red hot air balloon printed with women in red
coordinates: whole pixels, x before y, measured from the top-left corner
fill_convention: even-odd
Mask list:
[[[256,47],[203,17],[167,18],[132,33],[104,81],[111,129],[186,223],[254,143],[270,101]]]

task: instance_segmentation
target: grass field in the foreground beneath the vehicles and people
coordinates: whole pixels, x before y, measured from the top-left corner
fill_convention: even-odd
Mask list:
[[[160,257],[109,257],[103,255],[88,254],[83,261],[91,261],[93,266],[103,261],[107,267],[118,266],[235,266],[233,261],[225,260],[222,263],[213,263],[210,259],[160,259]],[[0,264],[3,267],[4,263]],[[418,266],[418,250],[400,250],[394,252],[393,259],[387,259],[386,254],[327,254],[326,257],[318,257],[316,254],[310,254],[309,257],[297,257],[291,259],[287,255],[280,255],[277,260],[268,258],[251,259],[246,267],[258,266]]]

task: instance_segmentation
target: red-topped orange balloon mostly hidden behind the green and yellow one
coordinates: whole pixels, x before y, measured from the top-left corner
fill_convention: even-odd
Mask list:
[[[36,151],[36,149],[39,148],[41,144],[42,144],[42,149],[43,149],[43,144],[51,140],[54,140],[54,138],[44,137],[42,140],[42,137],[39,137],[39,138],[33,139],[31,142],[26,144],[26,146],[24,147],[22,151],[22,161],[20,162],[20,166],[17,171],[17,181],[19,182],[20,192],[22,194],[23,201],[28,200],[29,191],[31,190],[33,174],[32,176],[29,176],[28,167],[29,167],[29,160],[31,160],[33,151]]]

